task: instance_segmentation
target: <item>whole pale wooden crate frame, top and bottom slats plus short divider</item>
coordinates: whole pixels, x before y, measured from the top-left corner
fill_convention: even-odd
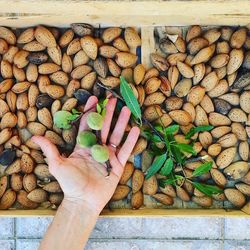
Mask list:
[[[67,1],[0,0],[0,24],[27,27],[37,24],[69,26],[85,22],[101,26],[141,27],[142,63],[150,65],[154,48],[152,26],[171,25],[249,25],[249,0],[201,1]],[[0,216],[53,216],[55,210],[6,210]],[[239,210],[225,209],[114,209],[104,210],[104,217],[126,216],[216,216],[244,217]]]

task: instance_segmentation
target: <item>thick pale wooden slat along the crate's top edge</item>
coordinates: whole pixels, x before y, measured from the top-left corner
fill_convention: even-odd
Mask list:
[[[224,1],[53,1],[1,0],[1,25],[39,23],[65,26],[73,22],[106,25],[246,25],[248,0]]]

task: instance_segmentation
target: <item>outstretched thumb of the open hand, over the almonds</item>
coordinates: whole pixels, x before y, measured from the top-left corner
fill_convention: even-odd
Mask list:
[[[51,141],[49,141],[47,138],[45,138],[43,136],[33,136],[31,139],[33,142],[35,142],[36,144],[38,144],[40,146],[44,155],[48,159],[49,165],[52,162],[58,161],[60,159],[61,156],[60,156],[60,153],[59,153],[57,147]]]

